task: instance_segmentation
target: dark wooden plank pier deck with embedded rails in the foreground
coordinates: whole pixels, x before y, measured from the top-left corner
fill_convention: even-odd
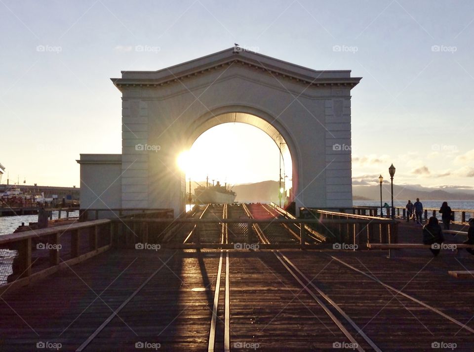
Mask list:
[[[1,293],[0,351],[225,351],[226,331],[230,351],[473,349],[474,277],[448,274],[474,270],[466,251],[114,248],[63,266]]]

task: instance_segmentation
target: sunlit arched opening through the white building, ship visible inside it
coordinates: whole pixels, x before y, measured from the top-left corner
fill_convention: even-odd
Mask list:
[[[272,122],[247,112],[210,113],[197,119],[185,134],[189,137],[178,158],[185,203],[206,203],[208,199],[199,199],[194,190],[212,186],[213,180],[224,186],[221,190],[239,189],[238,202],[273,201],[281,206],[292,202],[297,184],[293,145]],[[252,185],[261,181],[265,182]],[[251,187],[262,189],[249,198]],[[232,199],[232,194],[224,199]]]

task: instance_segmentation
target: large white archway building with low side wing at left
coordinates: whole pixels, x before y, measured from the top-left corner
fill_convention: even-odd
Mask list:
[[[185,180],[177,155],[226,122],[286,143],[297,209],[352,206],[351,89],[360,78],[350,71],[315,71],[230,48],[159,71],[123,71],[112,81],[122,92],[122,154],[81,154],[88,186],[81,183],[81,208],[98,207],[94,194],[118,178],[120,194],[103,192],[108,207],[172,208],[178,216]]]

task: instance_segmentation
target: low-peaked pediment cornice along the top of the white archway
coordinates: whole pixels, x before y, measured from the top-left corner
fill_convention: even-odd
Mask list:
[[[350,70],[316,71],[240,47],[233,47],[158,71],[122,71],[121,78],[111,80],[120,90],[137,86],[160,87],[205,75],[234,64],[248,66],[278,79],[288,79],[316,87],[353,88],[361,79],[351,77]]]

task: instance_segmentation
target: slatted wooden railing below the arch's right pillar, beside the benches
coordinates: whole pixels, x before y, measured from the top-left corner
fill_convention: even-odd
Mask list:
[[[357,245],[359,249],[365,249],[367,243],[398,242],[396,220],[310,208],[300,208],[300,217],[319,219],[321,224],[317,225],[318,231],[332,236],[339,243]],[[335,220],[346,221],[336,223]]]

